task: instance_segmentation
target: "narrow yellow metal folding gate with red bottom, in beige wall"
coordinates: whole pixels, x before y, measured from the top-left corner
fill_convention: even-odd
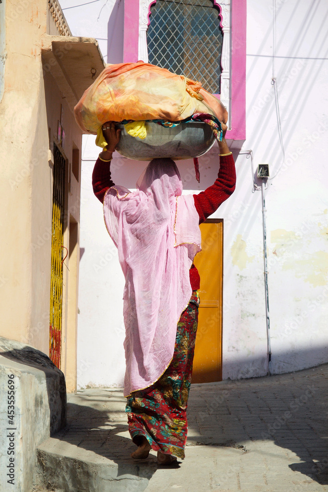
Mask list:
[[[54,144],[53,218],[50,283],[50,359],[60,369],[65,159]]]

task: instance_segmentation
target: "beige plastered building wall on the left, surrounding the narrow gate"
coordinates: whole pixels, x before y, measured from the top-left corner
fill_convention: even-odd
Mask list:
[[[80,182],[72,174],[72,142],[80,153],[81,130],[64,95],[41,60],[41,38],[51,27],[46,0],[6,4],[5,86],[0,102],[0,336],[30,343],[49,354],[52,227],[52,151],[60,105],[66,159],[64,246],[69,223],[79,234]],[[50,149],[50,150],[49,150]],[[79,163],[79,167],[81,164]],[[81,170],[79,169],[81,176]],[[81,181],[81,178],[80,180]],[[76,380],[78,243],[63,266],[62,369]],[[70,268],[70,266],[71,268]],[[69,272],[69,270],[71,272]],[[75,292],[75,295],[74,295]],[[67,308],[67,303],[73,303]]]

